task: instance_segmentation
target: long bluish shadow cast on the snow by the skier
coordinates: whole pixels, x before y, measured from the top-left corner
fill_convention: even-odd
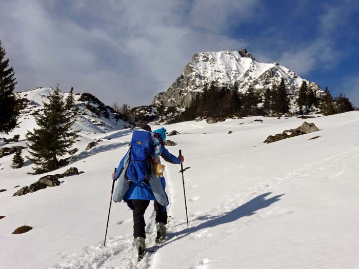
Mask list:
[[[192,226],[192,227],[188,227],[182,231],[179,232],[174,232],[174,233],[167,233],[168,236],[168,240],[166,240],[167,242],[162,244],[162,246],[169,244],[175,240],[181,239],[189,234],[198,232],[202,229],[206,229],[209,227],[214,227],[214,226],[218,226],[218,225],[222,225],[225,223],[229,223],[235,220],[238,220],[242,217],[245,216],[252,216],[254,215],[258,210],[260,209],[264,209],[267,208],[268,206],[270,206],[272,203],[275,203],[276,201],[279,201],[281,196],[283,196],[284,194],[281,195],[276,195],[273,196],[269,199],[265,199],[268,195],[270,195],[271,193],[264,193],[261,195],[258,195],[257,197],[253,198],[252,200],[246,202],[245,204],[242,204],[241,206],[238,206],[238,208],[226,212],[220,216],[200,216],[197,217],[194,221],[196,220],[205,220],[204,222],[201,222],[200,224],[196,225],[196,226]]]

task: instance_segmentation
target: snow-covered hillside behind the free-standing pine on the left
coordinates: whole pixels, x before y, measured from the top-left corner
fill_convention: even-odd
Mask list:
[[[19,134],[21,139],[25,138],[25,133],[27,130],[32,130],[36,126],[34,112],[41,111],[43,107],[43,102],[48,102],[48,99],[45,97],[50,94],[52,91],[51,88],[35,88],[28,91],[17,93],[17,98],[23,99],[24,107],[20,111],[20,117],[18,119],[18,126],[6,137],[12,137],[15,134]],[[65,98],[69,93],[64,93]],[[79,116],[77,121],[73,125],[73,129],[81,129],[80,135],[88,135],[90,133],[106,133],[114,130],[121,130],[124,128],[131,127],[132,125],[122,119],[116,120],[115,114],[111,113],[109,109],[106,108],[108,117],[103,113],[96,115],[88,108],[94,108],[94,111],[98,107],[96,101],[81,101],[79,98],[81,94],[74,93],[75,103],[79,109]]]

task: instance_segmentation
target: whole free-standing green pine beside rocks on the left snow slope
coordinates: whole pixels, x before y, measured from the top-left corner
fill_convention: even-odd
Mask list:
[[[35,164],[33,170],[37,174],[57,169],[61,165],[57,156],[63,156],[77,138],[77,132],[70,130],[75,121],[73,112],[66,108],[59,86],[46,98],[49,102],[44,102],[44,112],[35,115],[39,128],[26,134],[29,159]]]

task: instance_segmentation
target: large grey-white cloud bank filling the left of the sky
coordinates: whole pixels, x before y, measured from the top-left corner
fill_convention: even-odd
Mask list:
[[[108,104],[149,103],[167,90],[194,52],[246,45],[221,30],[233,16],[254,14],[257,1],[190,3],[2,2],[0,36],[15,68],[16,89],[60,82],[65,91],[73,86]]]

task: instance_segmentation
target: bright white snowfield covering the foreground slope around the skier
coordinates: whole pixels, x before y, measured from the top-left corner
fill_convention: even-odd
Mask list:
[[[268,135],[304,121],[321,131],[263,143]],[[174,155],[182,149],[184,167],[191,167],[185,172],[189,227],[180,166],[165,163],[173,219],[164,243],[156,253],[147,253],[139,268],[358,267],[358,111],[306,120],[187,121],[166,129],[180,133],[168,137],[177,146],[167,148]],[[85,133],[74,145],[79,152],[72,163],[49,173],[76,167],[84,174],[19,197],[12,197],[15,185],[29,185],[41,176],[27,175],[29,164],[12,169],[12,155],[0,158],[0,189],[7,189],[0,193],[0,215],[6,216],[0,220],[1,268],[135,267],[132,212],[126,204],[112,203],[103,246],[110,175],[128,149],[131,132]],[[314,136],[320,137],[309,140]],[[99,138],[97,146],[84,151]],[[18,144],[24,141],[10,146]],[[150,246],[155,237],[152,203],[145,219]],[[33,230],[11,234],[24,224]]]

